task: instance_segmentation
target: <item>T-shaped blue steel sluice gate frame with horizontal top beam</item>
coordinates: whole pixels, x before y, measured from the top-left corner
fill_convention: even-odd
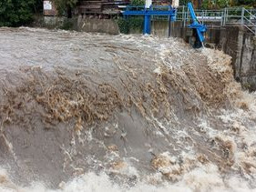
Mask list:
[[[169,21],[176,20],[176,9],[170,5],[167,6],[153,6],[145,8],[144,6],[127,6],[123,12],[125,17],[128,15],[144,15],[143,34],[150,34],[151,32],[151,15],[167,15]]]

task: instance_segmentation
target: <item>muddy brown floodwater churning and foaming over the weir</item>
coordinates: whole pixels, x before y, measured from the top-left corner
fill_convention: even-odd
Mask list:
[[[255,191],[256,94],[179,39],[0,28],[1,191]]]

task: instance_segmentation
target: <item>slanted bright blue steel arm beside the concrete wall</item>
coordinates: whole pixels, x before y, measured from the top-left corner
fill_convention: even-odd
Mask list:
[[[200,39],[200,43],[203,43],[205,40],[203,34],[207,31],[207,27],[206,27],[206,25],[200,24],[200,22],[197,18],[197,15],[195,14],[193,5],[191,3],[188,3],[188,7],[189,7],[189,13],[190,13],[192,21],[193,21],[193,23],[191,25],[189,25],[189,28],[196,29],[197,35]]]

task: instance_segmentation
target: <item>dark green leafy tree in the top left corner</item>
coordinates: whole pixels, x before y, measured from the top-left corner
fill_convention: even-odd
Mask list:
[[[0,26],[29,24],[33,21],[33,15],[36,13],[36,10],[40,8],[40,5],[36,5],[36,1],[37,0],[1,0]]]

